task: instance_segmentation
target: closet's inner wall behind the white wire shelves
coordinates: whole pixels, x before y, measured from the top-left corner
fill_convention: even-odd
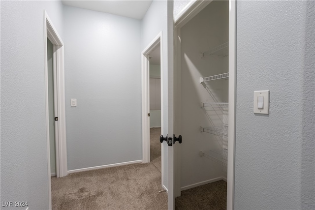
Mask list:
[[[228,80],[200,84],[200,77],[228,72],[228,57],[205,56],[228,41],[228,1],[213,1],[181,28],[181,187],[226,177],[223,167],[199,151],[222,150],[227,138],[201,133],[199,126],[221,126],[221,109],[200,108],[200,102],[228,102]],[[185,141],[184,141],[185,140]]]

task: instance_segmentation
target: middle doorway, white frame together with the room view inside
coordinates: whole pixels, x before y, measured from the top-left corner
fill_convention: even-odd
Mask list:
[[[160,127],[160,129],[155,129],[155,136],[159,133],[163,133],[163,51],[162,51],[162,32],[159,32],[158,35],[152,40],[152,42],[143,50],[141,57],[142,57],[142,71],[141,71],[141,81],[142,81],[142,162],[149,163],[151,161],[151,136],[150,136],[150,118],[151,113],[153,114],[152,119],[153,127]],[[150,59],[151,57],[151,59]],[[150,66],[151,64],[151,66]],[[153,64],[153,65],[152,65]],[[155,98],[152,102],[155,102],[151,106],[155,108],[155,110],[150,111],[150,67],[151,67],[151,77],[152,82],[155,82],[155,95],[159,96],[158,99]],[[158,80],[159,79],[159,80]],[[160,85],[160,90],[157,90],[158,84]],[[153,83],[151,83],[153,85]],[[159,106],[158,106],[159,105]],[[153,133],[153,132],[152,132]],[[161,172],[161,187],[166,189],[164,184],[164,154],[163,154],[163,145],[159,142],[156,143],[158,140],[156,137],[155,139],[155,147],[160,148],[160,150],[155,150],[152,152],[153,154],[153,161],[157,167],[160,167]],[[154,140],[153,139],[153,140]],[[160,158],[156,158],[160,154]],[[156,160],[155,160],[156,158]]]

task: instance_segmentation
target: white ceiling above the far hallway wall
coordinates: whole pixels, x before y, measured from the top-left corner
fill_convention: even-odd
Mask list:
[[[63,0],[64,5],[141,20],[152,0]]]

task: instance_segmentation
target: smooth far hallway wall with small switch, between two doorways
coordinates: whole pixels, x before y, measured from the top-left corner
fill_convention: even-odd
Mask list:
[[[140,27],[64,6],[68,170],[142,159]]]

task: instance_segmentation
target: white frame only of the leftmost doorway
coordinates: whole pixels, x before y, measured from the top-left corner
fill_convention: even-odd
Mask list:
[[[47,12],[43,10],[44,16],[44,71],[45,71],[45,103],[46,103],[46,141],[47,141],[47,166],[48,166],[48,196],[49,209],[51,204],[51,171],[50,171],[50,139],[49,139],[49,109],[48,109],[48,61],[47,61],[47,38],[54,45],[54,95],[55,110],[58,110],[58,121],[55,123],[56,134],[56,176],[64,177],[67,171],[67,154],[66,154],[66,133],[65,133],[65,100],[64,100],[64,45],[63,41],[54,27]],[[57,125],[57,126],[56,126]]]

